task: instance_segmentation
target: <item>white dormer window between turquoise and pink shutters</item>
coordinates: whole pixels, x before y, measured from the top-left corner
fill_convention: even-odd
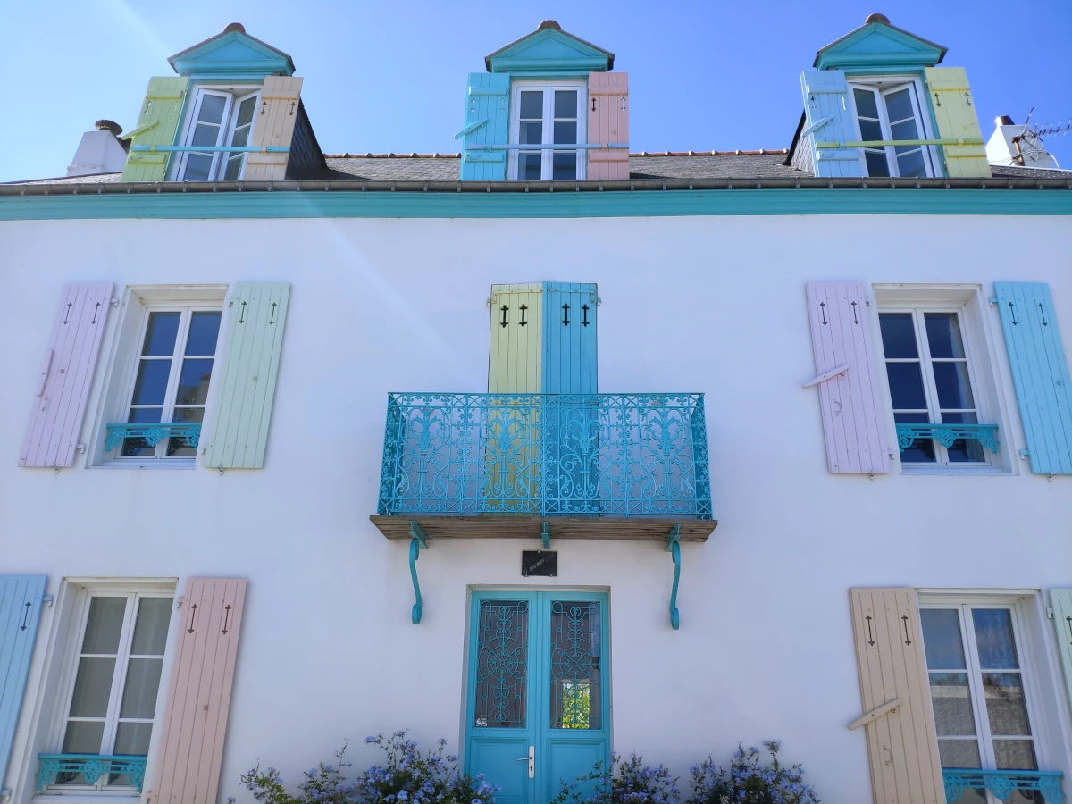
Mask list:
[[[513,84],[510,108],[511,145],[583,145],[585,133],[582,84]],[[509,151],[510,178],[519,181],[583,179],[583,150],[553,148]]]

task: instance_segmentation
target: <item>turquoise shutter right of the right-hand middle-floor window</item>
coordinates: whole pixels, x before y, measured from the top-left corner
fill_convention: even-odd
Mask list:
[[[1031,472],[1072,475],[1072,381],[1044,282],[995,282]]]

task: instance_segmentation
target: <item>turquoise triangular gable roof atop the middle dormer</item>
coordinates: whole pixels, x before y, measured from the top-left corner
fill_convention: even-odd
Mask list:
[[[532,33],[485,57],[483,63],[489,73],[568,75],[612,70],[614,54],[545,19]]]

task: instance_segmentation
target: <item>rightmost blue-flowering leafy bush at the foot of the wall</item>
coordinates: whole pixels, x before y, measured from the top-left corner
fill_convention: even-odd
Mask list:
[[[729,771],[709,756],[693,765],[693,798],[688,804],[819,804],[815,790],[804,783],[798,763],[786,768],[778,760],[781,744],[768,740],[771,763],[759,763],[759,748],[738,745]]]

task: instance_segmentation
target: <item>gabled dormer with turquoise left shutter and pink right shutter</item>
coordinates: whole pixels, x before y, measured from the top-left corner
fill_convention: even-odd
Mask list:
[[[461,178],[629,178],[629,84],[614,54],[546,20],[485,58],[465,96]]]

